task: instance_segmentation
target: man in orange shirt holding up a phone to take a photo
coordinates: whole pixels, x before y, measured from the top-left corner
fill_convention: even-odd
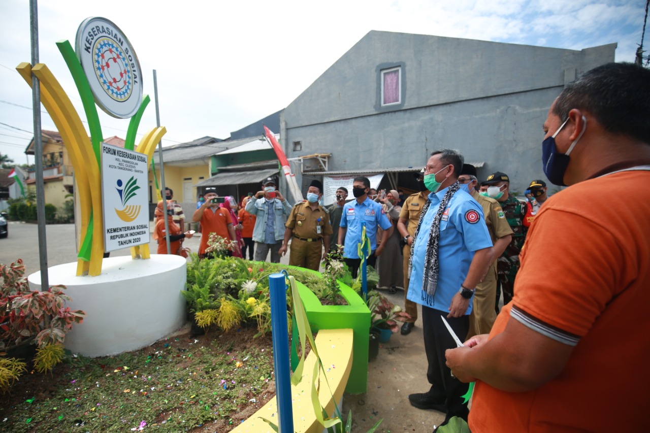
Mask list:
[[[201,222],[201,244],[199,246],[199,257],[201,259],[211,256],[211,254],[205,254],[205,248],[207,248],[207,241],[211,233],[216,233],[227,241],[234,241],[233,248],[239,250],[237,235],[235,235],[235,228],[233,228],[230,214],[226,209],[219,207],[219,203],[216,202],[217,197],[216,192],[205,194],[205,202],[192,215],[192,221]],[[228,251],[226,255],[232,256],[232,252]]]

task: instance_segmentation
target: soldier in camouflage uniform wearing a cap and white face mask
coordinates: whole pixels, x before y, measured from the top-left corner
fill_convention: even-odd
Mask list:
[[[526,240],[528,227],[526,224],[526,203],[520,202],[517,198],[511,196],[510,177],[502,172],[496,172],[487,176],[482,185],[487,185],[487,192],[481,194],[489,196],[500,203],[503,213],[506,215],[508,224],[512,228],[512,241],[506,247],[497,261],[497,301],[495,309],[499,313],[499,297],[503,292],[503,304],[506,305],[513,296],[515,286],[515,276],[519,270],[519,253]]]

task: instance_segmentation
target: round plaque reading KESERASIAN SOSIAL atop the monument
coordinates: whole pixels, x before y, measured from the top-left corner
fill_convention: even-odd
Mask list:
[[[142,101],[142,73],[131,43],[112,21],[87,18],[76,41],[95,102],[113,117],[130,118]]]

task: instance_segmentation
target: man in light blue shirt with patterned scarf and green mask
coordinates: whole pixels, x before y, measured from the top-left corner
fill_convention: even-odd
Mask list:
[[[408,299],[422,305],[424,350],[428,361],[426,393],[411,394],[416,408],[445,412],[467,421],[463,394],[467,384],[451,376],[445,350],[456,347],[444,317],[465,341],[474,289],[487,272],[492,240],[483,210],[458,183],[463,156],[453,150],[432,153],[424,167],[424,184],[431,192],[411,245]]]

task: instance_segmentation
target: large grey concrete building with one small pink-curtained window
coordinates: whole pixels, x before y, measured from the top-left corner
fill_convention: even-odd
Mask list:
[[[280,112],[281,142],[290,159],[331,154],[326,170],[293,167],[303,187],[385,173],[382,187],[408,188],[431,151],[454,148],[482,179],[506,172],[521,192],[545,179],[542,124],[553,99],[580,73],[613,62],[615,49],[370,31]]]

